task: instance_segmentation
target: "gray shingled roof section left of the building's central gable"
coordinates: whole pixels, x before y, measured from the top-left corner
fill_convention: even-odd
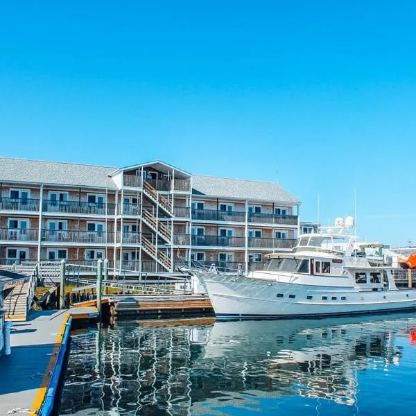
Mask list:
[[[0,182],[31,182],[115,189],[108,174],[116,168],[0,157]]]

